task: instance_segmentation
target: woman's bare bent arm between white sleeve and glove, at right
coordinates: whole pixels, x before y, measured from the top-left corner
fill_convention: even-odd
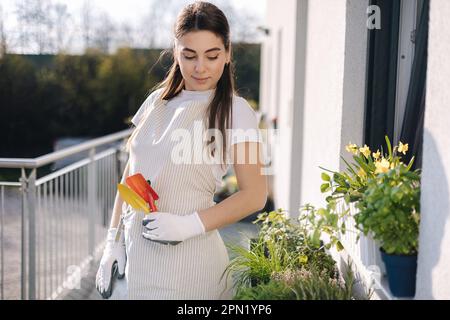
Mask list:
[[[206,231],[235,223],[261,210],[266,204],[267,179],[262,172],[260,147],[261,144],[256,142],[233,145],[232,156],[239,191],[215,206],[198,212]],[[245,150],[245,155],[247,155],[245,156],[245,161],[240,158],[243,150]],[[257,150],[256,155],[255,150]],[[250,154],[255,157],[255,161],[250,161],[251,157],[250,159],[248,158]]]

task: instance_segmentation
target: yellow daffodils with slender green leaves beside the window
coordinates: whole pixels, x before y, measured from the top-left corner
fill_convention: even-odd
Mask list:
[[[341,159],[346,164],[347,168],[344,172],[336,172],[320,167],[325,172],[322,173],[323,183],[320,187],[322,193],[331,192],[326,200],[328,203],[334,202],[343,198],[348,204],[350,202],[357,202],[362,199],[364,192],[367,189],[368,181],[374,179],[380,173],[386,173],[398,166],[405,166],[406,171],[409,171],[414,157],[406,166],[401,161],[401,154],[405,155],[408,151],[408,144],[400,142],[398,146],[392,149],[391,142],[385,136],[388,153],[383,154],[377,149],[376,152],[370,150],[367,145],[362,147],[356,144],[349,143],[345,149],[352,154],[353,162],[349,163],[344,157]],[[331,173],[330,176],[328,173]]]

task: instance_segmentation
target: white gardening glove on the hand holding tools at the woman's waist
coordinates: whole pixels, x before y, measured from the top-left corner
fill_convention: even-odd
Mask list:
[[[205,233],[205,227],[197,212],[184,216],[155,212],[148,214],[142,224],[144,238],[163,244],[175,245]]]

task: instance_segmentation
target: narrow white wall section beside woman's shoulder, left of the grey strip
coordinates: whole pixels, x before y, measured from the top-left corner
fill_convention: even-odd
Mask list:
[[[274,175],[274,200],[277,207],[289,209],[291,176],[291,113],[294,94],[294,56],[296,36],[297,1],[269,0],[267,2],[266,24],[270,35],[262,47],[261,110],[268,121],[277,117],[281,132],[272,145]]]

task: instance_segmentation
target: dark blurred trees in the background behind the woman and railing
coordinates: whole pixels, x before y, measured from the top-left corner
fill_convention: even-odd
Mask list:
[[[159,49],[107,55],[9,55],[0,58],[2,157],[36,157],[65,136],[97,137],[130,126],[172,59]],[[257,105],[260,45],[233,44],[238,92]]]

